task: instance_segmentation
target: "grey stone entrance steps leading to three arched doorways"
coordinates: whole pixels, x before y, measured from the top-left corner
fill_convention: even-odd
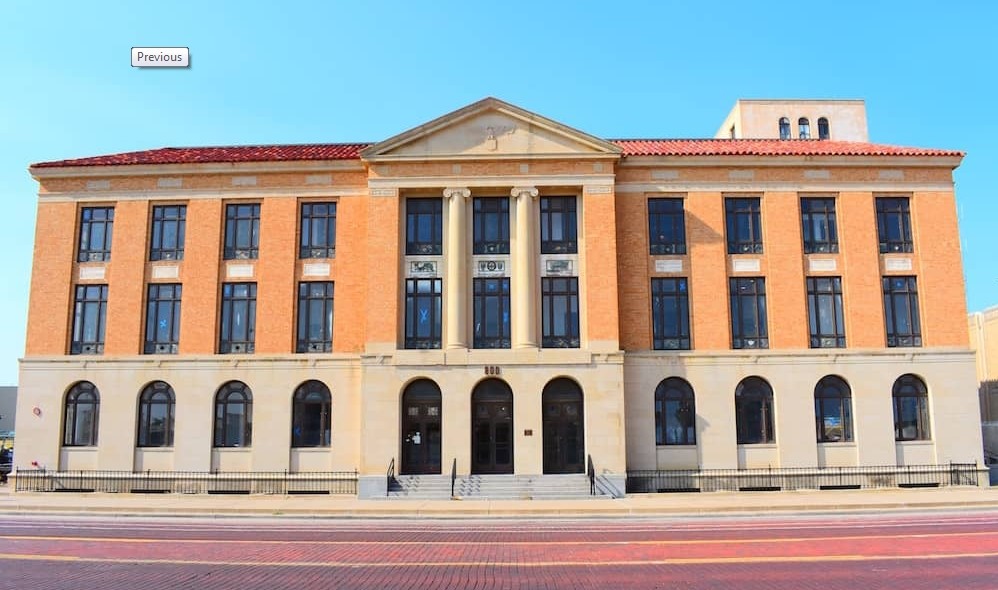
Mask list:
[[[399,475],[388,490],[389,498],[446,500],[449,475]],[[454,496],[462,500],[588,500],[606,499],[597,488],[589,495],[589,478],[571,475],[462,475],[454,482]]]

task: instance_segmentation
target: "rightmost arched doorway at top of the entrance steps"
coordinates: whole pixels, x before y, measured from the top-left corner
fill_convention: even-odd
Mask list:
[[[585,420],[582,390],[571,379],[554,379],[541,394],[544,411],[544,473],[583,473]]]

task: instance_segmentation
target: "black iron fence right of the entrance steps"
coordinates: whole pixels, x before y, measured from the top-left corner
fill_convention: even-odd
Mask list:
[[[628,493],[842,490],[978,486],[976,463],[879,467],[628,471]]]

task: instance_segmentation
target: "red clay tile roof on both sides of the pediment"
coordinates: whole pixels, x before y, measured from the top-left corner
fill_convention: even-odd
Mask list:
[[[623,156],[953,156],[954,150],[817,139],[612,139]],[[33,164],[33,168],[356,160],[370,143],[159,148]]]

